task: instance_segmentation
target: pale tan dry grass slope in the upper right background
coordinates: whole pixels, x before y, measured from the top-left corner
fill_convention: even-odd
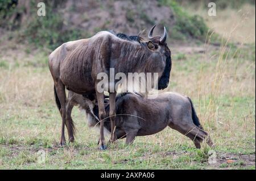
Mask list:
[[[255,43],[255,6],[245,4],[240,9],[228,7],[221,10],[216,5],[216,16],[208,16],[208,7],[203,5],[185,7],[190,13],[198,14],[206,20],[207,26],[230,41]],[[237,26],[238,25],[238,26]],[[236,27],[234,30],[234,27]]]

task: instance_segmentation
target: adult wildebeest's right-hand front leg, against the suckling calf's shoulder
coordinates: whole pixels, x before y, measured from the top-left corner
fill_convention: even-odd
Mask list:
[[[110,125],[111,125],[111,137],[110,142],[114,142],[117,140],[117,136],[115,135],[115,96],[117,92],[113,92],[109,94],[109,117],[110,117]]]

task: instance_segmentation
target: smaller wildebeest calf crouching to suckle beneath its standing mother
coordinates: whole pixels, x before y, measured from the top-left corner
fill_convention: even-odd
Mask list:
[[[117,95],[115,133],[118,139],[126,137],[126,144],[130,144],[135,136],[155,134],[168,126],[191,138],[196,148],[201,147],[200,143],[204,138],[207,138],[209,146],[213,146],[213,142],[201,126],[193,103],[188,96],[165,92],[159,94],[157,98],[150,98],[151,95],[148,95],[148,99],[144,99],[141,95],[131,93]],[[69,106],[80,106],[82,110],[86,111],[89,127],[98,126],[96,102],[73,92],[69,92],[67,102]],[[106,112],[108,112],[108,100],[105,99],[105,102]],[[104,128],[110,132],[109,117],[104,121]]]

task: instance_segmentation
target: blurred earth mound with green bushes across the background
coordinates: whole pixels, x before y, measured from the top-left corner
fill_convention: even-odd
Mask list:
[[[46,16],[38,16],[38,0],[1,0],[0,27],[8,31],[9,39],[16,39],[47,47],[51,50],[61,43],[94,35],[100,30],[114,30],[136,34],[153,24],[168,28],[171,39],[181,41],[205,41],[211,33],[204,18],[188,12],[183,7],[205,6],[203,0],[174,1],[69,1],[45,0]],[[218,9],[239,9],[243,4],[255,5],[255,1],[216,0]],[[218,41],[217,35],[212,36]]]

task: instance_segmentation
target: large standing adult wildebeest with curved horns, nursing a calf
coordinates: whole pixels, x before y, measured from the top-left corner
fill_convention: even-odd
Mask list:
[[[49,56],[49,69],[54,81],[54,92],[57,106],[62,117],[60,144],[65,144],[64,128],[68,129],[69,141],[73,141],[73,125],[66,120],[65,87],[77,94],[91,96],[96,94],[100,120],[105,118],[104,92],[96,87],[99,73],[109,75],[110,68],[117,73],[158,73],[158,89],[168,86],[171,71],[171,51],[167,47],[167,31],[164,35],[152,36],[155,26],[148,33],[149,41],[137,38],[117,36],[112,32],[101,31],[89,39],[64,43]],[[128,38],[127,38],[128,37]],[[134,41],[135,39],[135,41]],[[116,82],[109,82],[114,85]],[[109,90],[108,90],[109,91]],[[115,96],[109,94],[109,115],[111,137],[114,141]],[[106,149],[104,138],[104,121],[100,121],[99,148]]]

